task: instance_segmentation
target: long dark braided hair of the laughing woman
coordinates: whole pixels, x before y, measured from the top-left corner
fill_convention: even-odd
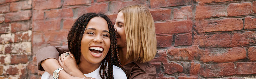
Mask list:
[[[85,31],[85,28],[88,24],[88,22],[93,18],[93,17],[102,17],[107,21],[108,24],[108,29],[109,29],[109,34],[110,34],[110,50],[108,51],[106,57],[102,60],[102,64],[100,67],[100,76],[102,79],[113,79],[113,65],[120,67],[126,74],[127,78],[128,75],[126,71],[124,70],[123,66],[121,65],[120,59],[119,59],[119,54],[117,50],[117,43],[116,43],[116,37],[115,37],[115,29],[114,26],[112,25],[112,22],[110,19],[104,15],[103,13],[86,13],[80,16],[72,28],[70,29],[67,40],[68,40],[68,49],[69,51],[74,54],[75,59],[77,61],[77,64],[80,63],[80,56],[81,56],[81,40]],[[105,71],[106,66],[108,63],[107,67],[107,73]],[[101,70],[103,70],[101,74]]]

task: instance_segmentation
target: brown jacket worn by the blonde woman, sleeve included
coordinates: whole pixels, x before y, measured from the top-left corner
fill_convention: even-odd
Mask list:
[[[68,46],[49,46],[37,51],[36,59],[38,63],[38,70],[44,70],[41,62],[48,58],[58,59],[59,55],[69,52]],[[156,69],[151,63],[130,62],[123,66],[127,71],[129,79],[155,79]]]

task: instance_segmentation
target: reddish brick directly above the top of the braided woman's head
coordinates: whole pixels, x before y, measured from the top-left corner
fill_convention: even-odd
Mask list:
[[[107,13],[108,9],[108,3],[103,4],[97,4],[97,5],[91,5],[87,8],[87,12],[95,12],[95,13]]]

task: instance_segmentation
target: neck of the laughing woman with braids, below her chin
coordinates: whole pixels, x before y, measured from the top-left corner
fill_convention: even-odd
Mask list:
[[[91,64],[91,63],[87,62],[85,59],[83,59],[83,57],[81,55],[81,60],[80,60],[80,63],[78,64],[78,67],[79,67],[79,70],[83,74],[88,74],[88,73],[93,72],[97,68],[99,68],[100,65],[101,65],[101,62],[98,64]]]

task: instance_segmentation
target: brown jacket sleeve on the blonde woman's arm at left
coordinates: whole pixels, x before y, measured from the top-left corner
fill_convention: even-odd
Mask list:
[[[69,52],[68,46],[49,46],[38,50],[36,52],[38,70],[44,71],[44,68],[41,66],[42,61],[48,58],[54,58],[58,60],[59,55],[65,52]]]

